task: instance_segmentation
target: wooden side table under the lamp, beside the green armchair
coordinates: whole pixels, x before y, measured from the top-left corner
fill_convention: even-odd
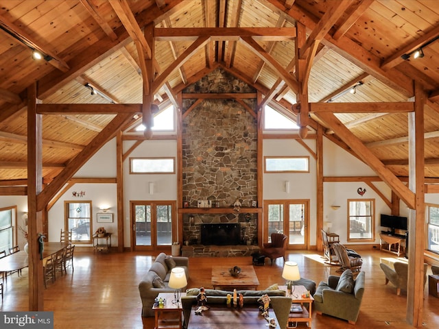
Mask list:
[[[287,296],[291,297],[292,307],[289,310],[287,328],[296,328],[297,324],[294,322],[307,322],[308,327],[311,328],[312,319],[312,304],[313,296],[302,297],[304,293],[307,293],[307,289],[304,286],[293,286],[293,294],[289,295],[287,286],[279,286],[279,289],[285,290]],[[308,309],[303,304],[308,304]]]

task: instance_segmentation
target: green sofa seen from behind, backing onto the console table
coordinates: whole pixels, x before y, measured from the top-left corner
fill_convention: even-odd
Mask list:
[[[191,317],[191,310],[195,308],[197,305],[197,295],[200,292],[200,289],[188,289],[186,291],[186,295],[181,297],[182,308],[183,308],[183,317],[185,328],[187,328],[187,324],[189,322],[189,317]],[[223,291],[223,290],[213,290],[213,289],[205,289],[206,297],[207,297],[207,305],[224,305],[226,307],[227,294],[233,295],[233,291]],[[278,328],[286,328],[289,316],[289,308],[291,308],[292,301],[291,297],[285,297],[285,291],[283,290],[240,290],[237,291],[237,294],[242,293],[244,297],[244,306],[254,305],[254,308],[258,308],[259,297],[264,295],[265,293],[270,296],[270,311],[274,311],[276,314],[276,318],[278,319],[279,327]],[[233,306],[232,306],[233,307]],[[269,313],[270,313],[269,311]],[[206,310],[205,312],[209,312]],[[268,327],[267,327],[268,328]],[[208,328],[206,328],[208,329]]]

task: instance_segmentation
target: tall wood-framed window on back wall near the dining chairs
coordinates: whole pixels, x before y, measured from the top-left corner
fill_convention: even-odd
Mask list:
[[[91,201],[64,202],[65,228],[71,230],[71,240],[91,243]]]

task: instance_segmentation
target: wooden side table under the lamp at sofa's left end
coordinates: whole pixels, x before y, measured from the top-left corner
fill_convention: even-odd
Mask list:
[[[181,297],[186,293],[181,293]],[[182,311],[183,306],[181,301],[179,303],[173,303],[174,293],[159,293],[158,299],[162,298],[166,300],[163,307],[154,307],[154,329],[182,329]]]

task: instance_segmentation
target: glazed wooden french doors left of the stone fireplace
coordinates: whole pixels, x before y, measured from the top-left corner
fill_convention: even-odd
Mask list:
[[[176,241],[176,203],[130,202],[133,250],[170,247]]]

